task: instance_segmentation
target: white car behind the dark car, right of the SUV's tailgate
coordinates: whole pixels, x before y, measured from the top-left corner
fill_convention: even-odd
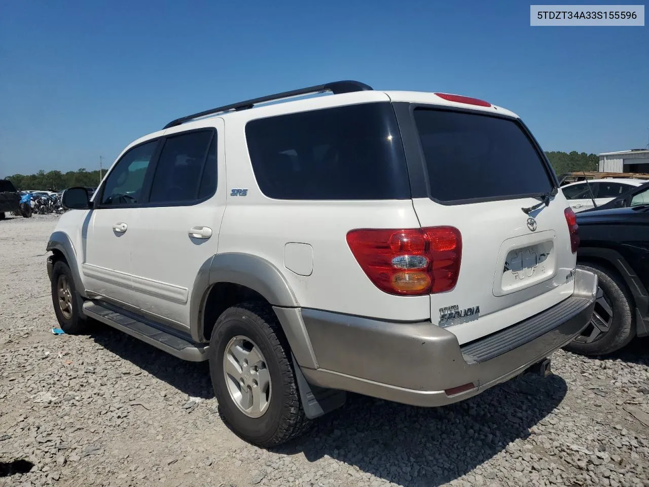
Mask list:
[[[606,205],[609,201],[645,182],[644,179],[595,179],[588,182],[571,182],[561,186],[561,190],[569,201],[570,208],[574,212],[582,212],[596,206]]]

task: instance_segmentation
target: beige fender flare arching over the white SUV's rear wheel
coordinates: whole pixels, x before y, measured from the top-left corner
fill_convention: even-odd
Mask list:
[[[288,281],[271,262],[251,254],[223,253],[206,260],[195,279],[190,298],[193,340],[202,336],[205,301],[214,284],[231,282],[252,289],[273,306],[291,350],[302,366],[316,368],[315,355],[297,301]]]

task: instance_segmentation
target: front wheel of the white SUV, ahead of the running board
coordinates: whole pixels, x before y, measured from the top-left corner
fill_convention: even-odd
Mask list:
[[[60,286],[66,287],[69,295],[64,297],[65,292],[60,293]],[[68,334],[81,333],[86,329],[87,320],[84,315],[80,313],[82,298],[75,288],[75,281],[72,277],[72,272],[63,260],[57,260],[52,269],[52,304],[58,325],[61,329]],[[64,306],[61,300],[66,301]]]

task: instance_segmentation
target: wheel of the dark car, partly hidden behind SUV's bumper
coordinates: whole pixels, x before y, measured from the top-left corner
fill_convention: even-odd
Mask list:
[[[633,299],[617,273],[598,264],[579,266],[598,277],[598,294],[591,323],[565,348],[583,355],[606,355],[633,340]],[[593,323],[598,323],[596,327]],[[607,327],[604,326],[607,324]],[[590,340],[588,341],[589,338]]]

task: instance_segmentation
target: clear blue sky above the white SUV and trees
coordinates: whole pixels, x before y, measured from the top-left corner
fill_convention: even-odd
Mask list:
[[[529,24],[521,1],[5,0],[0,177],[97,169],[178,116],[339,79],[485,99],[548,151],[644,147],[649,27]]]

